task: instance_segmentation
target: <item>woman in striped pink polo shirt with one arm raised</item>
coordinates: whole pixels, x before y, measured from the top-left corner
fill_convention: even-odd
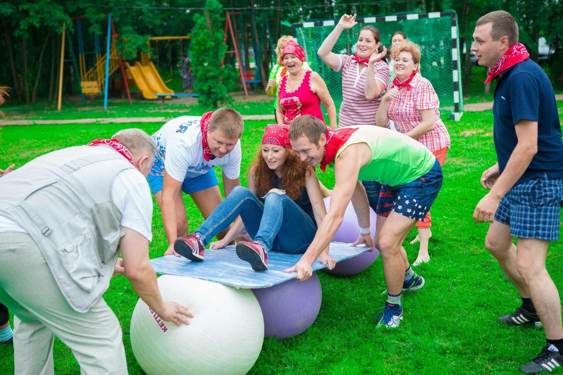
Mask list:
[[[342,31],[351,29],[358,23],[355,20],[356,15],[343,15],[317,51],[325,64],[342,73],[339,127],[376,125],[376,112],[381,102],[381,93],[389,82],[389,67],[382,60],[386,56],[387,49],[381,46],[381,35],[373,26],[364,26],[360,30],[356,42],[356,55],[337,55],[331,52]]]

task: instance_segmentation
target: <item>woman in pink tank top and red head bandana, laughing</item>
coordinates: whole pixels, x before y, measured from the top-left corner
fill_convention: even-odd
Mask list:
[[[325,123],[320,103],[323,102],[328,112],[330,127],[336,129],[336,107],[327,84],[314,71],[303,69],[305,51],[289,41],[283,49],[284,69],[289,75],[283,75],[278,89],[278,109],[276,120],[279,124],[289,124],[297,116],[312,115]]]

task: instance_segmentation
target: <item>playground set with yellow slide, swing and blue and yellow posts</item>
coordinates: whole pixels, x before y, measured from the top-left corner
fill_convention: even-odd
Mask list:
[[[115,25],[111,19],[111,14],[108,14],[108,34],[106,36],[106,53],[101,54],[100,40],[97,33],[93,33],[94,37],[94,51],[84,50],[84,36],[82,31],[82,20],[86,19],[86,16],[77,16],[72,19],[76,21],[76,31],[78,39],[78,59],[74,54],[74,48],[72,43],[72,38],[70,33],[66,31],[66,24],[62,26],[62,40],[61,40],[61,57],[60,57],[60,78],[59,78],[59,95],[57,102],[57,110],[61,110],[62,104],[62,77],[64,71],[64,62],[72,62],[74,65],[74,71],[76,74],[76,79],[81,88],[82,102],[86,105],[86,95],[96,96],[104,92],[104,110],[108,109],[108,87],[109,81],[113,78],[120,70],[122,76],[121,82],[124,85],[124,91],[127,93],[127,98],[129,104],[132,105],[131,92],[129,87],[136,86],[138,91],[141,93],[142,97],[148,100],[157,100],[159,97],[164,99],[170,99],[171,96],[163,97],[162,94],[174,94],[174,91],[169,89],[160,74],[158,73],[157,67],[154,66],[153,62],[150,60],[149,53],[141,52],[141,61],[135,61],[134,64],[129,64],[127,61],[123,61],[118,49],[116,48],[116,42],[118,34],[115,31]],[[65,37],[68,40],[68,48],[72,58],[65,59]],[[158,51],[158,41],[167,40],[186,40],[190,37],[186,36],[167,36],[167,37],[151,37],[147,41],[150,50],[150,42],[154,40],[157,43]],[[180,44],[180,48],[181,44]],[[172,59],[170,43],[168,43],[168,50],[170,59]],[[93,65],[88,69],[86,55],[93,55]],[[78,63],[77,63],[78,60]],[[158,65],[158,64],[157,64]],[[171,67],[172,75],[172,67]],[[158,95],[158,96],[157,96]],[[179,94],[176,94],[178,96]],[[191,96],[196,96],[192,94]]]

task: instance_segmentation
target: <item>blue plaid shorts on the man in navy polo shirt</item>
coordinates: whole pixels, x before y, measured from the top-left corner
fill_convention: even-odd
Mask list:
[[[563,178],[549,179],[544,173],[513,186],[502,197],[494,219],[510,225],[511,236],[557,241],[562,206]]]

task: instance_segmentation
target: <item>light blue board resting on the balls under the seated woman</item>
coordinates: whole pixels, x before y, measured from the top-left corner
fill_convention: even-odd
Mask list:
[[[367,251],[367,247],[350,247],[349,243],[331,242],[330,256],[337,262],[360,255]],[[205,260],[193,262],[185,257],[174,255],[162,256],[150,261],[155,272],[163,275],[188,276],[202,280],[212,281],[235,288],[255,289],[269,288],[276,284],[296,278],[297,273],[284,273],[301,259],[302,254],[285,254],[270,251],[268,255],[268,270],[254,271],[251,266],[239,259],[236,255],[235,245],[225,249],[205,250]],[[326,268],[316,260],[312,268],[314,271]]]

